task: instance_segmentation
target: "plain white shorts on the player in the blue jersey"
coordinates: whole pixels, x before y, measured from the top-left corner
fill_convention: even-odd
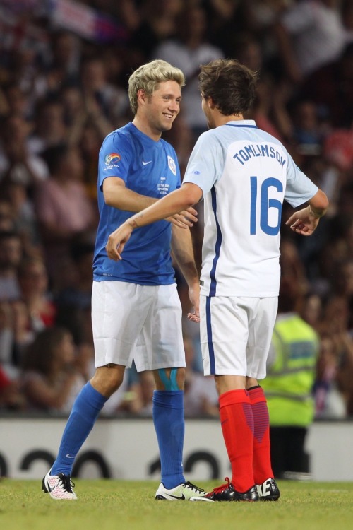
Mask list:
[[[177,285],[94,281],[92,330],[95,366],[109,363],[138,372],[185,366]]]

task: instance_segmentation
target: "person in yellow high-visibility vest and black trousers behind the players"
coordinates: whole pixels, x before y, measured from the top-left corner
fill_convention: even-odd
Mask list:
[[[271,461],[277,478],[300,478],[300,473],[309,472],[304,445],[314,417],[312,388],[319,338],[295,311],[294,289],[289,282],[281,282],[267,376],[261,381],[268,401]]]

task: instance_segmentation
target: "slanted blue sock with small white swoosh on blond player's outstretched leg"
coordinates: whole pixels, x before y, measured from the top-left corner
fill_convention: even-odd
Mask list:
[[[71,475],[76,454],[78,454],[83,442],[90,434],[95,420],[106,401],[107,398],[95,390],[90,382],[85,384],[73,404],[51,475],[57,475],[58,473]]]

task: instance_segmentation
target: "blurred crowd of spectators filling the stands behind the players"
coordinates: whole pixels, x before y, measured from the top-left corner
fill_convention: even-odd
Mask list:
[[[282,227],[282,277],[316,330],[316,418],[353,416],[353,0],[0,0],[0,410],[68,413],[92,375],[97,157],[131,118],[127,80],[150,59],[186,75],[165,139],[181,172],[206,124],[200,64],[258,71],[247,118],[330,199],[313,237]],[[198,265],[202,205],[192,229]],[[282,219],[289,216],[284,205]],[[217,416],[176,269],[186,416]],[[150,374],[126,372],[103,413],[150,415]]]

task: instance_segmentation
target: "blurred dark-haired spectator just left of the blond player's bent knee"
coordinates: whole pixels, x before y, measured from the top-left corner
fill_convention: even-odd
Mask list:
[[[37,334],[23,360],[22,386],[29,409],[68,413],[84,383],[69,331],[52,327]]]

